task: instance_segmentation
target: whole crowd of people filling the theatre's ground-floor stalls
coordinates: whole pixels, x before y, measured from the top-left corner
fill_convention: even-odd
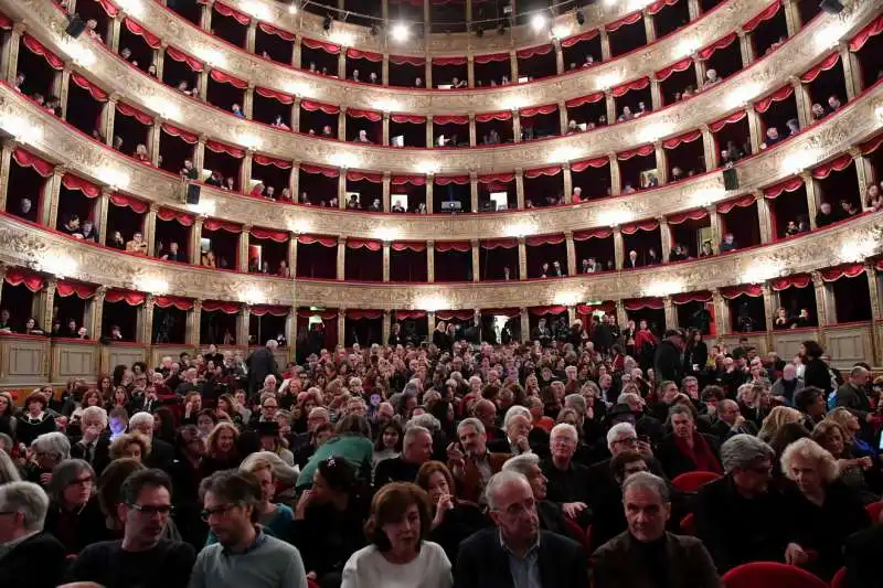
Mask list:
[[[703,588],[769,560],[881,586],[883,378],[815,341],[576,327],[2,392],[0,586]]]

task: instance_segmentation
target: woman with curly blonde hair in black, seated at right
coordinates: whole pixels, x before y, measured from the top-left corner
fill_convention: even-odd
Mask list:
[[[831,452],[812,439],[799,439],[785,449],[781,471],[794,482],[785,490],[792,532],[802,537],[804,549],[819,554],[806,567],[830,580],[844,564],[844,541],[871,526],[871,516],[858,493],[839,479]]]

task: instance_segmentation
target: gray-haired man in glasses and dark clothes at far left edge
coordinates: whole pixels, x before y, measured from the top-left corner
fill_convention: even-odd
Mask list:
[[[62,582],[64,546],[43,533],[49,496],[31,482],[0,485],[0,586],[43,588]]]

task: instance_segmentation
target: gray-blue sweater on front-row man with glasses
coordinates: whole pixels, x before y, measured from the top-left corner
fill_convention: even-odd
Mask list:
[[[243,554],[225,553],[221,544],[200,552],[190,588],[307,588],[300,552],[264,533]]]

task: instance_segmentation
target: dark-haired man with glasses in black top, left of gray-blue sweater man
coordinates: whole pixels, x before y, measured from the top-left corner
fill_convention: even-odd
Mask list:
[[[185,588],[196,554],[189,543],[162,538],[172,514],[171,493],[171,480],[161,470],[139,470],[126,478],[116,512],[123,539],[83,549],[68,581],[94,581],[105,588]]]

